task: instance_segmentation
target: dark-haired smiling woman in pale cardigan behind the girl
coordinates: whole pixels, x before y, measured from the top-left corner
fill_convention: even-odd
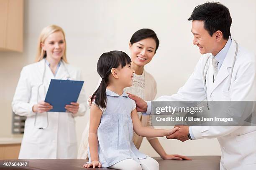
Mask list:
[[[151,29],[141,29],[136,31],[131,37],[129,48],[131,51],[131,67],[135,70],[133,77],[133,86],[126,87],[125,92],[130,92],[134,95],[141,97],[142,99],[154,100],[157,90],[156,81],[152,75],[144,70],[144,66],[148,64],[159,47],[159,40],[156,33]],[[101,82],[101,79],[100,81]],[[96,88],[97,89],[97,88]],[[95,90],[96,90],[95,89]],[[90,99],[89,99],[90,102]],[[142,116],[138,112],[139,119],[143,126],[151,126],[151,117]],[[89,134],[89,123],[84,129],[82,135],[82,141],[78,150],[78,158],[86,159],[88,157],[88,134]],[[136,133],[133,135],[133,143],[136,148],[140,148],[143,137],[138,136]],[[164,151],[164,148],[159,143],[157,138],[147,138],[151,146],[166,160],[190,160],[189,158],[182,155],[170,155]]]

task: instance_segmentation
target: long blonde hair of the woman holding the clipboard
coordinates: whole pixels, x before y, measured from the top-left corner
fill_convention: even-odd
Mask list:
[[[57,25],[49,25],[47,27],[45,27],[41,33],[40,33],[40,36],[39,36],[39,39],[38,39],[38,45],[37,45],[37,53],[36,53],[36,62],[38,61],[41,61],[44,57],[46,57],[46,51],[44,51],[41,47],[41,43],[44,43],[45,39],[51,35],[52,33],[54,32],[57,32],[57,31],[61,31],[63,36],[64,36],[64,42],[65,42],[65,50],[64,50],[64,54],[63,56],[61,57],[61,59],[68,63],[67,62],[67,57],[66,57],[66,47],[67,47],[67,44],[66,44],[66,38],[65,38],[65,33],[63,31],[63,29]]]

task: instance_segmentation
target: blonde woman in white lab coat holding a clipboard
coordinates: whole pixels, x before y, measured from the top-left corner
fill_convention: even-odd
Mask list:
[[[19,159],[77,157],[74,117],[87,110],[84,88],[66,112],[48,112],[53,106],[44,99],[51,79],[81,80],[80,70],[67,62],[65,34],[56,25],[42,30],[36,62],[21,70],[13,97],[13,112],[27,117]]]

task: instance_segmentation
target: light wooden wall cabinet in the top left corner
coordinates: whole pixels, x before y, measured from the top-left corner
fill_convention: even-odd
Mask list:
[[[23,52],[23,0],[0,0],[0,50]]]

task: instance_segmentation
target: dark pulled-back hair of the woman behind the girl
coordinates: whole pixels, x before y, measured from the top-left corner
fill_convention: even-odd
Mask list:
[[[156,36],[156,33],[151,30],[151,29],[148,29],[148,28],[143,28],[141,30],[138,30],[136,31],[133,36],[131,37],[131,45],[133,45],[133,43],[135,42],[138,42],[140,40],[144,40],[146,38],[153,38],[156,42],[156,50],[158,49],[159,47],[159,40],[158,40],[158,37]],[[155,50],[155,53],[156,53],[156,50]]]

